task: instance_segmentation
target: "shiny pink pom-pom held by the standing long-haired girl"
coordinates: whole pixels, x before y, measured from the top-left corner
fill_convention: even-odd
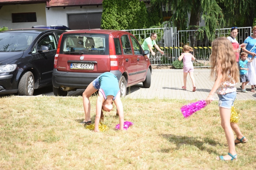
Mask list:
[[[205,100],[200,100],[195,103],[189,103],[181,107],[181,112],[185,118],[189,117],[193,113],[199,111],[206,106]]]

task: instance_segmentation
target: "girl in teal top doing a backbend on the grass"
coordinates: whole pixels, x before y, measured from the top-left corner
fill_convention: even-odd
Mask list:
[[[90,117],[90,100],[89,97],[99,90],[96,101],[96,117],[94,132],[99,132],[99,122],[104,120],[103,111],[110,112],[113,109],[113,101],[116,105],[119,115],[119,130],[124,127],[124,109],[120,99],[120,89],[116,76],[110,72],[102,73],[97,79],[91,82],[83,92],[83,106],[85,119],[82,124],[91,124]]]

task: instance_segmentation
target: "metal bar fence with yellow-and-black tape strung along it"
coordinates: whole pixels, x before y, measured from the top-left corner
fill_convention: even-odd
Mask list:
[[[238,28],[237,41],[242,44],[246,37],[251,35],[251,27]],[[176,31],[176,28],[152,28],[152,29],[136,29],[123,30],[132,33],[142,44],[144,39],[149,37],[151,33],[157,34],[156,43],[165,52],[164,55],[153,48],[156,53],[152,56],[150,53],[150,62],[152,65],[171,65],[173,61],[182,53],[182,47],[188,45],[194,48],[193,55],[196,58],[194,67],[209,67],[209,59],[211,55],[211,42],[207,36],[203,34],[203,38],[199,40],[197,30]],[[215,37],[228,37],[230,28],[217,29]]]

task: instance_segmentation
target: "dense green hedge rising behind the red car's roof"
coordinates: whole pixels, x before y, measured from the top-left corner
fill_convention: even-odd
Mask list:
[[[139,0],[103,0],[101,28],[131,30],[160,25],[162,21],[157,8],[146,8]]]

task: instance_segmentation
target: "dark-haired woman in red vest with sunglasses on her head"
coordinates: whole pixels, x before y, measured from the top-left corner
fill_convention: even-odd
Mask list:
[[[237,34],[238,34],[238,27],[232,27],[230,30],[230,36],[227,39],[232,43],[233,50],[236,52],[236,62],[239,62],[239,54],[241,48],[239,48],[239,43],[237,42]]]

